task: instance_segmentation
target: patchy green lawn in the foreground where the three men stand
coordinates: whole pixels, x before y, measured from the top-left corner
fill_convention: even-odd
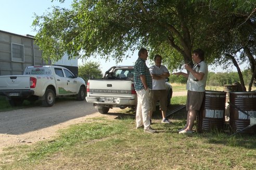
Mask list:
[[[172,107],[185,104],[186,96],[172,98]],[[0,169],[254,169],[255,136],[227,133],[177,134],[186,111],[172,115],[172,124],[153,115],[157,134],[135,129],[129,109],[86,119],[59,131],[58,137],[33,145],[6,148]]]

